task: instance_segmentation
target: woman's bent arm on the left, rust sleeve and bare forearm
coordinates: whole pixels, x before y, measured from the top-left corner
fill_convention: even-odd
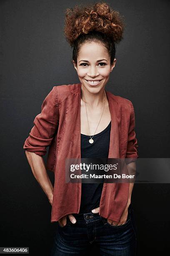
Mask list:
[[[59,123],[57,87],[54,86],[41,106],[41,113],[35,117],[34,126],[25,140],[23,148],[34,177],[52,204],[53,187],[47,175],[42,158],[50,146]]]

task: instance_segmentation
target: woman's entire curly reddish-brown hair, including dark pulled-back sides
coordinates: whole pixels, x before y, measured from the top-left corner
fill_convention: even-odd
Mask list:
[[[112,10],[107,3],[75,5],[65,12],[64,33],[66,41],[73,47],[72,59],[76,64],[80,46],[87,41],[101,42],[107,48],[112,63],[115,43],[119,44],[123,39],[124,29],[123,16]]]

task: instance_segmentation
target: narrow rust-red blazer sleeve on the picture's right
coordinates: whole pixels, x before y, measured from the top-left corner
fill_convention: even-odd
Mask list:
[[[135,112],[133,108],[133,104],[131,102],[131,115],[130,115],[130,125],[129,125],[129,131],[128,131],[128,144],[127,144],[127,151],[125,158],[127,159],[128,164],[132,161],[136,161],[136,159],[139,157],[138,150],[137,150],[137,139],[136,134],[134,131],[135,128]]]

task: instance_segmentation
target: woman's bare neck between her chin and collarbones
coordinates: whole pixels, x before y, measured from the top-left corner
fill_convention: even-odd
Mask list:
[[[104,100],[106,100],[105,97],[105,88],[102,88],[102,90],[97,93],[91,93],[85,86],[81,85],[81,98],[87,105],[90,105],[90,107],[96,108],[99,105],[103,105]]]

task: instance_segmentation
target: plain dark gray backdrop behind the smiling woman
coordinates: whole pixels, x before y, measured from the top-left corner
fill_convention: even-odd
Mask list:
[[[23,143],[52,87],[79,82],[63,34],[64,11],[88,2],[0,1],[0,246],[29,246],[30,255],[48,255],[55,225],[50,223],[50,203],[33,177]],[[125,16],[127,27],[106,90],[133,102],[140,157],[168,158],[170,1],[107,3]],[[53,173],[49,175],[54,182]],[[152,255],[170,248],[169,197],[169,184],[135,184],[138,255],[146,248]]]

